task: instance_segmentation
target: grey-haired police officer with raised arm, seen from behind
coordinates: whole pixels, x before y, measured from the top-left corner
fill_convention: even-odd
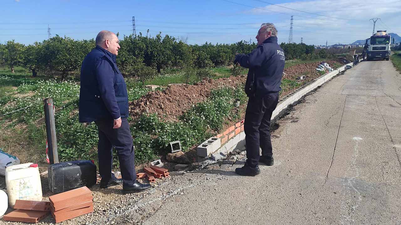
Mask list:
[[[235,173],[255,176],[258,162],[274,164],[270,140],[270,118],[277,106],[284,71],[284,51],[277,44],[277,30],[272,23],[263,23],[257,32],[257,48],[251,53],[237,54],[234,63],[249,68],[245,92],[249,97],[245,112],[247,161]],[[262,155],[259,154],[259,147]]]

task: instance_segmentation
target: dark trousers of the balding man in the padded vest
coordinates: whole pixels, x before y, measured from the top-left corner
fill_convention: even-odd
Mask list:
[[[119,129],[113,129],[114,121],[112,119],[97,120],[95,124],[99,130],[97,157],[99,158],[99,173],[102,180],[108,181],[114,177],[111,173],[114,147],[117,151],[124,186],[133,185],[136,182],[135,154],[127,118],[121,119]]]

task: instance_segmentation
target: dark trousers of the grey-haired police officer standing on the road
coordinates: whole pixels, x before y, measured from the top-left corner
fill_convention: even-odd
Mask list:
[[[250,97],[245,112],[245,143],[247,165],[256,167],[259,161],[259,147],[263,157],[272,157],[273,149],[270,140],[270,119],[278,103],[279,94],[264,97]]]

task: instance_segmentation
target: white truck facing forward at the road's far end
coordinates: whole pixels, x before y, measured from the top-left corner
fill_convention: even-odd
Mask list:
[[[376,34],[367,39],[367,59],[390,60],[391,36],[386,34],[387,30],[378,30]]]

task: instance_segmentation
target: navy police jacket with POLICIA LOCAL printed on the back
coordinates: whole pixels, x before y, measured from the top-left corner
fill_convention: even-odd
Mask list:
[[[251,53],[239,54],[235,59],[245,68],[249,68],[245,90],[253,81],[255,74],[255,91],[248,96],[263,97],[281,90],[281,78],[284,71],[284,51],[277,44],[277,37],[267,38]]]

